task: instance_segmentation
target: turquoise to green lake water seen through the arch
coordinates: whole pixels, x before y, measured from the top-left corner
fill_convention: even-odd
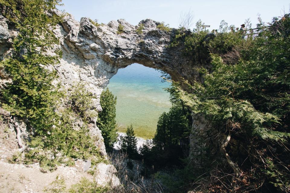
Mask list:
[[[136,136],[154,136],[159,116],[171,107],[169,93],[163,89],[170,83],[162,82],[160,76],[153,68],[132,64],[119,69],[110,79],[107,87],[117,96],[116,121],[120,132],[126,132],[132,124]]]

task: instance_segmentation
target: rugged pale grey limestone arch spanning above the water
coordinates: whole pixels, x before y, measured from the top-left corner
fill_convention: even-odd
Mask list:
[[[57,10],[54,13],[60,14]],[[9,54],[10,42],[16,32],[8,29],[4,17],[1,16],[0,20],[0,57],[3,59]],[[121,34],[117,33],[119,24],[124,26],[124,32]],[[170,39],[175,35],[174,29],[171,32],[160,30],[157,28],[160,23],[150,19],[142,20],[140,24],[144,25],[142,34],[136,32],[138,26],[133,26],[125,20],[95,26],[89,18],[83,17],[78,22],[68,14],[62,24],[54,30],[60,39],[60,45],[56,47],[63,52],[60,63],[50,66],[58,72],[57,82],[65,88],[78,82],[84,83],[86,89],[96,96],[93,109],[101,111],[99,96],[119,68],[139,63],[163,70],[175,81],[183,78],[189,81],[200,80],[194,68],[210,68],[205,60],[185,57],[179,48],[168,48]],[[53,51],[50,54],[53,54]],[[1,84],[4,86],[7,77],[0,75]],[[193,131],[208,128],[208,124],[203,124],[202,118],[194,115],[194,120]],[[92,134],[99,137],[98,147],[106,154],[101,132],[95,125],[91,126]],[[193,157],[201,145],[196,143],[196,136],[192,134],[191,137]]]

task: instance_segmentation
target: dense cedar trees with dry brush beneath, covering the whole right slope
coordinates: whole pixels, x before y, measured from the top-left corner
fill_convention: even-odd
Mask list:
[[[256,187],[289,192],[289,160],[286,158],[290,137],[289,25],[289,14],[285,14],[280,19],[274,18],[269,27],[262,22],[258,24],[260,33],[254,39],[244,38],[245,32],[229,30],[213,36],[199,30],[199,24],[194,33],[177,36],[186,55],[195,55],[201,49],[211,51],[212,71],[198,69],[202,82],[188,84],[185,81],[187,92],[179,83],[174,84],[176,92],[181,94],[180,99],[192,112],[211,120],[212,127],[219,135],[224,135],[218,142],[221,149],[218,158],[212,157],[211,150],[200,150],[198,160],[202,163],[198,167],[205,168],[200,174],[211,171],[219,178],[232,173],[235,181],[233,185],[230,181],[211,180],[211,177],[198,179],[197,173],[195,181],[199,186],[195,190],[217,191],[219,186],[219,191],[225,192],[229,189],[251,191]],[[200,140],[207,136],[198,131],[196,134],[201,136]],[[234,149],[235,144],[240,146],[239,150]],[[231,171],[221,166],[220,158],[227,161]],[[210,166],[213,163],[219,171]],[[188,168],[198,171],[189,164],[183,172]]]

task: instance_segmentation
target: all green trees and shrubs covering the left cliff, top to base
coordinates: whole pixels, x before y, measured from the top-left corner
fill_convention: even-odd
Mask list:
[[[61,100],[66,101],[65,93],[53,86],[56,72],[47,65],[58,63],[61,52],[56,50],[50,56],[46,51],[55,49],[54,45],[59,43],[52,30],[62,16],[51,13],[59,3],[59,0],[0,0],[2,13],[18,30],[12,56],[0,62],[12,78],[12,83],[1,90],[1,106],[33,130],[24,162],[38,161],[45,169],[62,163],[64,156],[92,157],[93,161],[101,158],[87,125],[86,112],[92,94],[83,85],[77,85],[67,99],[66,108],[58,110]],[[74,129],[73,118],[84,122],[80,130]]]

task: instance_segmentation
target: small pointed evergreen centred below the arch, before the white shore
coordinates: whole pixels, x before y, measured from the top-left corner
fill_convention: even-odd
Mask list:
[[[132,125],[127,127],[126,136],[122,140],[122,150],[127,152],[130,157],[137,154],[137,139]]]

